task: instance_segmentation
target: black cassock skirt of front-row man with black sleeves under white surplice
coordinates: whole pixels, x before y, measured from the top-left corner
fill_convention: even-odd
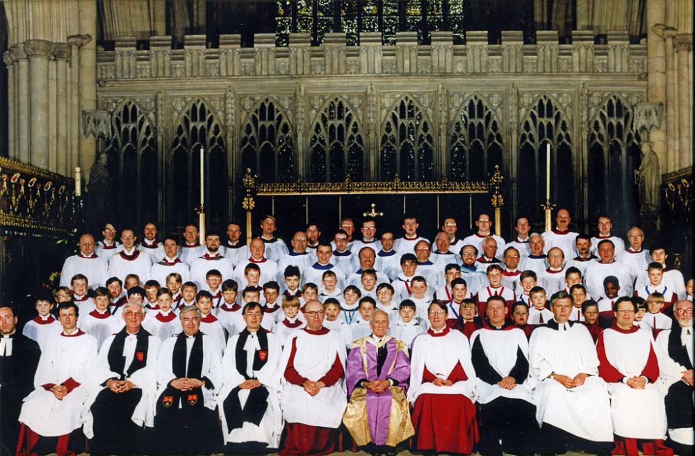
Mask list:
[[[536,453],[539,428],[535,405],[521,399],[496,398],[480,406],[477,420],[477,450],[481,455]]]

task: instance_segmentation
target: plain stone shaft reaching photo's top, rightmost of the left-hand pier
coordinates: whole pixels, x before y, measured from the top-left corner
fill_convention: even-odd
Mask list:
[[[78,120],[83,111],[93,111],[97,108],[97,42],[94,39],[97,36],[97,2],[95,0],[80,1],[80,33],[83,34],[83,43],[80,48],[79,63],[80,106],[76,117]],[[95,138],[85,138],[83,134],[80,134],[79,164],[76,166],[80,166],[83,170],[92,168],[96,149]]]

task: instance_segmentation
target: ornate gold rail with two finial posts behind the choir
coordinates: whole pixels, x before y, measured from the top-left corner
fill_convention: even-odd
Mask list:
[[[246,190],[246,195],[241,206],[246,211],[246,232],[247,243],[251,243],[252,215],[256,202],[256,196],[297,196],[304,195],[437,195],[437,208],[439,209],[439,195],[441,194],[473,194],[473,193],[492,193],[491,205],[495,209],[495,232],[499,236],[502,230],[500,213],[504,198],[500,193],[500,185],[504,180],[500,167],[495,166],[489,181],[477,182],[458,182],[449,181],[444,178],[442,181],[411,182],[401,181],[396,174],[391,182],[355,182],[349,177],[342,182],[304,182],[301,177],[296,182],[284,184],[261,184],[257,183],[258,176],[252,175],[250,168],[246,169],[246,175],[242,180]],[[308,210],[308,206],[307,206]],[[439,213],[439,210],[437,211]],[[439,218],[439,217],[438,217]]]

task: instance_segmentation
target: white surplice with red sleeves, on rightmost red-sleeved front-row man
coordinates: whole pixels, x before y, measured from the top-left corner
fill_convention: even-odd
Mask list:
[[[599,373],[609,382],[613,432],[632,439],[664,439],[666,409],[664,393],[658,382],[654,383],[659,369],[651,333],[638,327],[630,332],[612,327],[604,329],[598,336],[596,351]],[[648,378],[644,389],[630,388],[616,378],[641,375]]]

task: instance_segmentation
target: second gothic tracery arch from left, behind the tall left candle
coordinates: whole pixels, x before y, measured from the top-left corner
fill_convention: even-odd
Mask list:
[[[195,99],[174,127],[172,140],[172,201],[175,225],[195,218],[200,200],[200,147],[204,147],[204,196],[208,223],[216,225],[227,218],[227,148],[218,117],[204,99]],[[182,204],[181,202],[185,202]]]

